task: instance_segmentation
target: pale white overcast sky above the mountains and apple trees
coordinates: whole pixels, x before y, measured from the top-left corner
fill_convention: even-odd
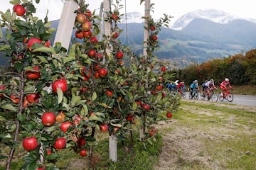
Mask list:
[[[99,13],[102,1],[103,0],[85,0],[85,3],[89,4],[88,8],[91,11]],[[198,9],[217,9],[234,16],[256,19],[254,1],[255,0],[151,0],[151,4],[154,4],[154,12],[151,12],[151,16],[158,19],[165,13],[174,17],[171,18],[171,23],[174,23],[180,16],[191,11]],[[121,4],[124,5],[120,11],[121,13],[125,13],[125,11],[127,13],[139,11],[144,15],[144,3],[140,5],[140,0],[122,0]],[[41,0],[40,5],[35,4],[35,6],[38,12],[36,16],[44,18],[48,9],[48,18],[52,21],[60,18],[63,1]],[[4,12],[8,8],[12,8],[11,4],[9,4],[9,0],[1,0],[0,11]]]

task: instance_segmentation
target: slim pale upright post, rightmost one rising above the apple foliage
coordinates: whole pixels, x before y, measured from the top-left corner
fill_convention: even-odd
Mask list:
[[[148,44],[147,41],[149,40],[149,26],[148,26],[148,21],[147,18],[150,17],[150,0],[145,0],[145,12],[144,12],[144,45],[143,45],[143,55],[144,57],[147,57],[147,48]]]

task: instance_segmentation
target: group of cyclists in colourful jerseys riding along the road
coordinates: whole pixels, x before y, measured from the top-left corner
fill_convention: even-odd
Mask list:
[[[230,81],[228,78],[225,78],[221,83],[220,83],[220,89],[221,93],[219,98],[225,97],[225,94],[227,94],[228,87],[233,90],[233,87],[230,84]],[[166,85],[166,88],[169,89],[170,92],[180,92],[181,94],[185,93],[186,91],[186,85],[184,84],[183,81],[178,81],[176,80],[174,83],[169,82]],[[202,84],[202,91],[201,91],[201,96],[202,98],[207,98],[210,100],[211,94],[213,93],[213,90],[217,90],[218,88],[214,84],[214,80],[210,79],[209,81],[206,80]],[[199,91],[199,85],[198,85],[198,80],[194,80],[192,84],[189,86],[189,98],[193,98],[195,94],[197,95],[196,99],[198,99],[198,91]],[[185,95],[186,97],[186,95]]]

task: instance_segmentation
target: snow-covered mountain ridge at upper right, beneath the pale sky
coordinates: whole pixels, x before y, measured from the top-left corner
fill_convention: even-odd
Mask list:
[[[195,18],[203,18],[203,19],[213,21],[215,23],[222,23],[222,24],[230,23],[235,19],[243,19],[243,20],[252,21],[256,23],[255,19],[240,18],[238,16],[233,16],[229,13],[225,13],[223,11],[218,11],[215,9],[206,9],[206,10],[198,9],[196,11],[186,13],[180,18],[178,18],[175,21],[175,23],[172,26],[170,26],[170,28],[174,30],[182,30],[188,25],[188,23],[193,21],[193,19]]]

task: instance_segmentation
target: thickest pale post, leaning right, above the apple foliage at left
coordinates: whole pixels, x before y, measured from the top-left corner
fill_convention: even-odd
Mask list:
[[[79,1],[78,1],[79,2]],[[54,44],[61,42],[61,45],[67,50],[70,46],[70,39],[73,33],[73,26],[75,23],[78,4],[73,0],[65,0],[63,11],[61,13],[60,22],[58,23],[57,32],[55,35]]]

